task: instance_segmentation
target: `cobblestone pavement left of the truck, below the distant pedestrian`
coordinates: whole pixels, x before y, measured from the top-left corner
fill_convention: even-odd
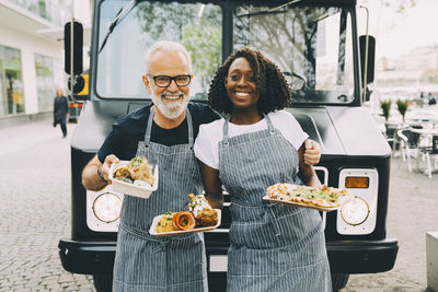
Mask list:
[[[51,120],[0,130],[0,291],[94,291],[62,269],[70,236],[70,138]]]

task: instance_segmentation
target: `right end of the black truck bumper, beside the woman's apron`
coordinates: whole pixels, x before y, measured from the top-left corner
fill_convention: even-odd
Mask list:
[[[382,241],[327,242],[330,268],[335,273],[371,273],[394,267],[399,242]]]

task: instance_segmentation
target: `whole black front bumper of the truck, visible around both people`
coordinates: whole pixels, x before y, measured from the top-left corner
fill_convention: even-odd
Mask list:
[[[327,242],[331,271],[335,273],[372,273],[391,270],[394,267],[399,242],[383,241],[342,241]],[[116,242],[59,241],[59,257],[62,267],[70,272],[96,275],[113,272]],[[211,257],[227,258],[228,246],[208,246],[209,272],[224,272],[227,264],[219,269]],[[210,278],[210,277],[209,277]]]

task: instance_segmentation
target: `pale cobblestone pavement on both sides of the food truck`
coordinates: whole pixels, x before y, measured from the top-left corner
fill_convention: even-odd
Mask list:
[[[0,291],[95,291],[90,276],[61,267],[70,236],[70,139],[50,120],[0,130]],[[422,162],[422,166],[424,166]],[[400,250],[391,271],[353,275],[343,292],[427,291],[426,232],[438,231],[438,172],[429,179],[391,162],[388,237]]]

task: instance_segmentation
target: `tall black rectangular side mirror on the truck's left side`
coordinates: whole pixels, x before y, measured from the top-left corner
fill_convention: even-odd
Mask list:
[[[73,51],[73,75],[82,73],[83,27],[79,22],[73,22],[73,46],[71,46],[71,22],[64,26],[64,69],[71,74],[71,50]]]

